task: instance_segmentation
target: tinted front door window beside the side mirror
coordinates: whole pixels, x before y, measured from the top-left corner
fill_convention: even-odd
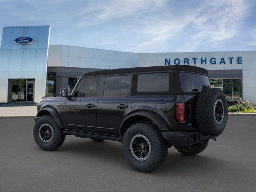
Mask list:
[[[100,77],[81,79],[74,92],[74,97],[98,97],[100,80]]]

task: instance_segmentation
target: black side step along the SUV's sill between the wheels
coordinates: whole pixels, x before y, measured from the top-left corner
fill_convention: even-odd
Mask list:
[[[97,138],[97,139],[106,139],[106,140],[119,141],[119,142],[123,141],[123,138],[121,136],[94,134],[89,132],[76,132],[76,131],[70,131],[70,130],[63,130],[62,132],[66,135],[74,135],[82,138]]]

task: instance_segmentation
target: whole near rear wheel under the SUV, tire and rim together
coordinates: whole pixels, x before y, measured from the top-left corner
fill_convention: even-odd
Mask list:
[[[150,172],[162,165],[168,153],[168,145],[156,125],[140,122],[126,130],[123,150],[126,160],[134,169]]]

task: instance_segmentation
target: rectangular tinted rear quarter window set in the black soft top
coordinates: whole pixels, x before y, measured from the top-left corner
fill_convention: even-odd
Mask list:
[[[168,73],[151,73],[138,75],[138,92],[164,92],[169,90]]]

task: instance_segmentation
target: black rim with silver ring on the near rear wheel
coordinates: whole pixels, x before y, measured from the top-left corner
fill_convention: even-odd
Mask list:
[[[151,145],[148,138],[141,134],[135,135],[130,142],[130,150],[137,160],[146,160],[151,153]]]

